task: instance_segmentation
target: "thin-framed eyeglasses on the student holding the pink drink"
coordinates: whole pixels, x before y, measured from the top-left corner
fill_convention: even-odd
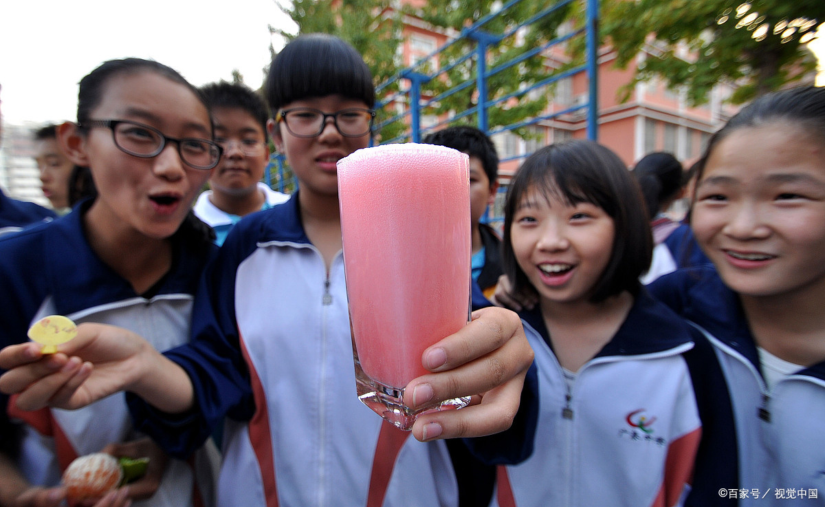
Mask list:
[[[327,125],[327,118],[332,118],[335,128],[344,137],[361,137],[372,130],[375,111],[350,107],[333,113],[325,113],[311,107],[293,107],[278,113],[276,120],[283,121],[286,130],[289,130],[290,134],[295,137],[309,138],[321,135],[324,126]]]

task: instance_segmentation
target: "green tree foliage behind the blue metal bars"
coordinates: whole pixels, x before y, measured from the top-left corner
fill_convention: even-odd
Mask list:
[[[550,71],[544,56],[535,54],[524,59],[521,63],[511,63],[519,59],[521,55],[535,50],[535,48],[546,44],[556,36],[559,25],[568,15],[570,4],[566,4],[553,12],[537,16],[553,4],[554,2],[544,0],[524,0],[499,12],[497,16],[492,17],[480,26],[483,36],[493,36],[495,37],[494,40],[500,39],[500,42],[488,46],[486,54],[487,72],[501,69],[488,79],[487,99],[495,101],[505,98],[502,102],[498,102],[496,106],[488,108],[488,129],[494,130],[497,126],[512,125],[527,118],[540,116],[544,108],[547,107],[549,95],[552,92],[549,88],[552,87],[543,90],[543,92],[527,92],[532,85],[549,77]],[[501,6],[502,2],[497,0],[479,0],[477,2],[451,0],[450,2],[427,2],[424,7],[409,9],[408,12],[421,18],[431,26],[460,32],[464,27],[473,26],[477,21],[488,17],[491,12],[496,12]],[[537,21],[531,22],[521,30],[516,31],[516,27],[533,17],[538,17]],[[440,54],[441,68],[447,68],[466,54],[475,53],[478,47],[473,38],[462,38]],[[432,78],[423,86],[423,92],[427,97],[443,98],[434,102],[431,105],[432,109],[426,111],[427,114],[460,115],[464,111],[477,107],[479,95],[475,86],[454,93],[450,93],[448,90],[468,80],[474,81],[478,69],[478,54],[474,54],[473,58],[464,60],[464,62],[455,65],[446,72],[437,73],[435,78]],[[424,69],[418,71],[432,75],[433,70],[424,67]],[[478,122],[477,113],[473,112],[462,118],[461,121],[476,124]],[[527,129],[513,131],[522,137],[530,136]]]

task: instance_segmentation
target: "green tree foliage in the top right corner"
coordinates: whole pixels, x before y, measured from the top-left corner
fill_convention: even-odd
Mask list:
[[[662,78],[692,104],[706,102],[716,83],[736,83],[731,102],[793,83],[816,68],[808,47],[825,21],[823,0],[603,0],[601,36],[617,64],[636,63],[634,83]]]

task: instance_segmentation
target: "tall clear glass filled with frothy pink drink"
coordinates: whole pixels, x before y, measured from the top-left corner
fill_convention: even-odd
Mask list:
[[[339,160],[337,173],[358,395],[411,429],[403,387],[427,373],[424,350],[468,320],[469,157],[384,145]]]

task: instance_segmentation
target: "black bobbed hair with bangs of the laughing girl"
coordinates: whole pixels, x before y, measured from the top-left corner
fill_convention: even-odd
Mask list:
[[[535,292],[521,271],[512,249],[512,219],[531,188],[544,196],[557,196],[568,204],[589,202],[599,206],[615,224],[610,261],[596,287],[592,302],[629,291],[639,293],[639,277],[650,267],[653,236],[641,192],[625,163],[590,140],[570,140],[545,146],[531,154],[516,171],[504,205],[502,263],[517,293]]]

